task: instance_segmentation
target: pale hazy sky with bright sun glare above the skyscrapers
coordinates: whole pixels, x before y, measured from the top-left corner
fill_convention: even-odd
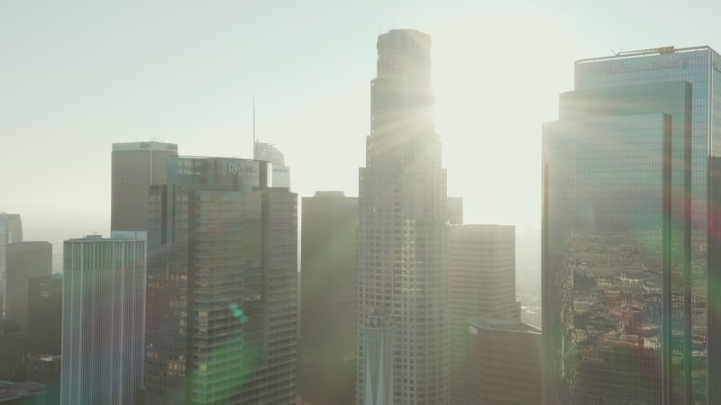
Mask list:
[[[467,222],[540,229],[541,123],[573,61],[721,50],[721,2],[0,0],[0,211],[26,239],[109,231],[113,142],[285,152],[293,189],[358,194],[376,39],[434,39],[448,192]],[[56,246],[56,248],[58,248]]]

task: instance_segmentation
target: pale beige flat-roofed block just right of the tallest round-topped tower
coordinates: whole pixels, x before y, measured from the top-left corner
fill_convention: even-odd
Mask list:
[[[521,320],[516,302],[516,227],[452,225],[448,295],[453,403],[461,403],[464,336],[470,318]]]

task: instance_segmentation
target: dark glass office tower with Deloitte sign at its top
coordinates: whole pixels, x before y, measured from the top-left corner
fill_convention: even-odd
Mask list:
[[[292,404],[297,195],[269,164],[170,157],[151,188],[145,400]]]

